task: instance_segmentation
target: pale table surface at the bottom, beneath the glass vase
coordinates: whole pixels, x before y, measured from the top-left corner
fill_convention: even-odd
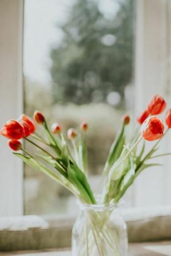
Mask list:
[[[24,255],[24,256],[71,256],[71,251],[66,250],[42,250],[22,252],[1,252],[0,256]],[[171,256],[171,241],[158,243],[131,243],[128,256]]]

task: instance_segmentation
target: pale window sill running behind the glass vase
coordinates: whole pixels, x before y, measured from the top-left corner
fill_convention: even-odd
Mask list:
[[[170,206],[123,209],[123,216],[129,242],[171,240]],[[0,251],[69,248],[75,219],[67,215],[0,218]]]

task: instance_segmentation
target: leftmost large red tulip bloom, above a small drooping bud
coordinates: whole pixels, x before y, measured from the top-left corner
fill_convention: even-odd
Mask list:
[[[21,124],[16,120],[9,120],[4,124],[1,135],[7,137],[8,139],[19,140],[24,135],[24,130]]]

